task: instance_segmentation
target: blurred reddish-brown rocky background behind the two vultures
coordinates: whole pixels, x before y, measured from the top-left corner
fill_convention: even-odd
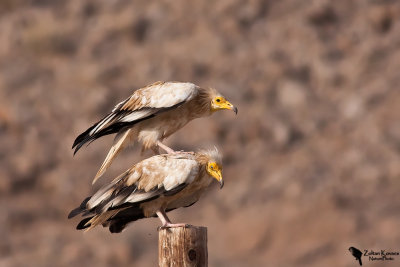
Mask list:
[[[150,155],[125,151],[92,188],[112,137],[73,157],[74,138],[158,80],[239,107],[166,142],[225,155],[224,189],[171,213],[208,227],[210,266],[400,250],[399,18],[395,0],[1,0],[0,266],[157,265],[157,219],[112,235],[67,214]]]

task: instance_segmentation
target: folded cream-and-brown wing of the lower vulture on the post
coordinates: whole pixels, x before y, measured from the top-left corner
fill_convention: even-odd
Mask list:
[[[87,202],[88,210],[101,213],[125,203],[143,203],[176,194],[193,182],[199,165],[190,158],[165,155],[143,160],[100,189]]]

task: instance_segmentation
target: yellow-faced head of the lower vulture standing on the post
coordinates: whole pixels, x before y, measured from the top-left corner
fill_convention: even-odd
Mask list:
[[[222,156],[218,152],[218,149],[200,151],[198,155],[200,156],[200,161],[205,165],[207,174],[215,178],[222,188],[224,186],[224,180],[222,179]]]

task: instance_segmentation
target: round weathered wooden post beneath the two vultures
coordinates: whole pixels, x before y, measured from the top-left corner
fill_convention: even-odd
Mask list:
[[[160,267],[203,267],[208,265],[207,227],[161,228],[158,232]]]

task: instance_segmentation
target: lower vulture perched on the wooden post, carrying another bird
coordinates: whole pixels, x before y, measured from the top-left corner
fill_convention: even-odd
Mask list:
[[[137,163],[86,198],[68,218],[83,213],[88,217],[77,225],[78,230],[103,225],[111,233],[120,233],[130,222],[155,216],[160,218],[162,227],[183,226],[171,223],[166,212],[193,205],[212,178],[223,187],[217,149],[156,155]]]

